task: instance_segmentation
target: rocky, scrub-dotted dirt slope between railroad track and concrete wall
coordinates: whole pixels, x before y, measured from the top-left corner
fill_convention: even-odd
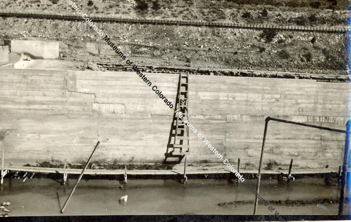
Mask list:
[[[134,64],[335,74],[346,70],[344,34],[99,24]],[[0,18],[5,39],[60,41],[61,59],[124,65],[83,22]]]

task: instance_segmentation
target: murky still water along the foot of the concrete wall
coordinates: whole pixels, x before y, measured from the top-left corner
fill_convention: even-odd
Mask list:
[[[62,215],[60,208],[75,184],[67,186],[53,179],[7,178],[0,190],[0,201],[10,201],[10,216]],[[239,186],[224,179],[191,179],[186,184],[175,180],[128,180],[122,188],[116,180],[81,180],[63,215],[99,214],[252,214],[256,179]],[[267,200],[335,199],[339,189],[325,185],[320,178],[299,179],[290,184],[262,180],[261,195]],[[128,195],[126,206],[119,199]],[[218,203],[233,202],[223,206]],[[280,214],[337,214],[338,204],[271,204]],[[345,212],[348,212],[346,209]],[[273,211],[274,213],[274,211]],[[273,214],[259,205],[258,214]]]

